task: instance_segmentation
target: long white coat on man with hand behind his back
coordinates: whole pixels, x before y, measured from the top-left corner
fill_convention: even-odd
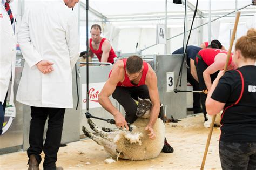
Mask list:
[[[72,69],[79,58],[78,23],[63,0],[37,2],[26,9],[18,32],[25,59],[16,100],[36,107],[73,108]],[[36,64],[53,62],[43,74]]]

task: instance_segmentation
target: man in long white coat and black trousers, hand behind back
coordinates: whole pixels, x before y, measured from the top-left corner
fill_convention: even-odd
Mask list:
[[[79,58],[78,23],[70,9],[79,0],[35,2],[25,10],[18,43],[25,65],[17,101],[31,106],[29,169],[56,167],[65,108],[73,108],[72,69]],[[48,117],[45,144],[43,133]]]

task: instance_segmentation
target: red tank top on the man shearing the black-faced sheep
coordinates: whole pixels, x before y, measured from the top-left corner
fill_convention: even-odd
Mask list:
[[[129,80],[129,77],[128,77],[127,74],[126,74],[125,68],[126,68],[127,59],[122,59],[122,61],[123,61],[123,63],[124,63],[124,71],[125,71],[125,74],[124,74],[124,81],[123,81],[123,82],[118,82],[117,86],[138,87],[138,86],[145,85],[145,80],[146,80],[146,76],[147,76],[147,71],[149,70],[149,66],[147,65],[147,63],[146,63],[146,62],[143,62],[142,78],[140,78],[138,85],[134,85],[134,84],[131,83],[131,81]],[[110,77],[111,72],[112,72],[112,70],[111,70],[110,73],[109,73],[109,77]]]

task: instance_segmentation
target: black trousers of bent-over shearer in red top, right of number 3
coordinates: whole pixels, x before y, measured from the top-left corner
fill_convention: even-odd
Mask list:
[[[199,90],[206,90],[207,87],[205,85],[205,80],[203,77],[203,72],[207,69],[208,65],[201,59],[199,59],[198,57],[196,57],[196,61],[194,62],[194,64],[196,65],[196,69],[197,69],[197,76],[198,76],[198,81],[199,81]],[[218,76],[219,71],[215,72],[214,74],[211,74],[211,81],[213,83],[213,81],[216,79],[216,77]],[[203,112],[204,112],[204,117],[206,120],[206,108],[205,108],[205,101],[207,98],[207,94],[205,93],[200,93],[200,98],[201,98],[201,104],[202,104],[202,108],[203,108]]]

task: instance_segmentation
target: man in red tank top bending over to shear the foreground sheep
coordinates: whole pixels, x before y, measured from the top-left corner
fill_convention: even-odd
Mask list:
[[[117,108],[115,108],[109,96],[116,99],[124,107],[125,118]],[[160,99],[157,89],[157,76],[149,64],[143,62],[138,56],[130,56],[128,59],[118,60],[110,72],[102,91],[99,93],[99,103],[114,116],[118,128],[126,128],[127,122],[132,124],[136,119],[137,104],[134,100],[150,99],[152,107],[150,119],[146,131],[149,138],[156,137],[153,126],[156,120],[161,117],[164,121],[163,107],[160,109]],[[161,111],[160,111],[161,110]],[[163,152],[172,153],[173,148],[167,143],[165,138]]]

